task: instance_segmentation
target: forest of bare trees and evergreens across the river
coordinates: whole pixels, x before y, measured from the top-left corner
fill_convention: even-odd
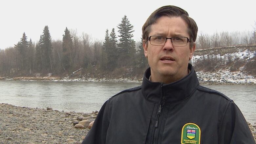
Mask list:
[[[63,31],[62,40],[52,40],[49,27],[45,26],[38,36],[39,40],[33,42],[27,39],[24,32],[14,47],[0,49],[0,76],[80,77],[90,74],[106,78],[141,77],[148,63],[144,57],[142,38],[136,42],[133,32],[133,25],[126,15],[117,30],[105,31],[104,40],[97,40],[84,32],[78,35],[76,30],[68,28]],[[255,44],[256,23],[248,32],[199,32],[196,49]],[[203,67],[207,67],[207,63]]]

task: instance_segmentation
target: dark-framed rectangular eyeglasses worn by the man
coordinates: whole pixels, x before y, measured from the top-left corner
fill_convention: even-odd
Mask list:
[[[172,45],[175,47],[184,47],[187,46],[187,43],[190,42],[189,38],[177,36],[177,37],[164,37],[164,36],[150,36],[148,40],[151,45],[154,46],[164,46],[167,39],[171,39]]]

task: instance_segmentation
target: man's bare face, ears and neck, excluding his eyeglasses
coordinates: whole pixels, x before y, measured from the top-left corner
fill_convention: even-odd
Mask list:
[[[187,24],[181,17],[162,16],[157,22],[151,25],[149,36],[164,37],[188,37]],[[152,81],[164,82],[169,77],[169,82],[177,81],[187,75],[189,59],[192,58],[195,46],[189,48],[189,43],[183,47],[175,47],[171,39],[167,39],[164,46],[154,46],[148,41],[148,45],[143,42],[145,57],[151,68]]]

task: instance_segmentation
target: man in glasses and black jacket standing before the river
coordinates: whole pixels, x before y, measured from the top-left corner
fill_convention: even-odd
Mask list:
[[[234,102],[199,85],[188,63],[197,31],[181,8],[154,11],[142,28],[142,86],[107,100],[83,144],[254,144]]]

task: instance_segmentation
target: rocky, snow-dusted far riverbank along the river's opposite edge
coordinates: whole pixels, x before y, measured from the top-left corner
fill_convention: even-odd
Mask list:
[[[219,70],[216,72],[196,72],[200,84],[224,84],[224,85],[256,85],[256,76],[245,72],[230,72]],[[0,80],[42,80],[42,81],[87,81],[87,82],[142,82],[142,77],[133,78],[95,78],[83,77],[0,77]]]

